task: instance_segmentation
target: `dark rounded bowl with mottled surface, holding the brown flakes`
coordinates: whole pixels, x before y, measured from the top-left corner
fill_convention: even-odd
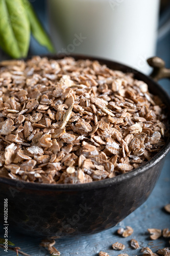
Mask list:
[[[58,59],[57,56],[48,56]],[[98,59],[74,56],[76,59]],[[98,59],[109,68],[133,72],[170,113],[170,100],[150,77],[120,63]],[[169,118],[170,120],[170,118]],[[0,218],[4,224],[4,199],[8,199],[10,228],[40,237],[75,237],[111,228],[147,200],[170,148],[168,140],[150,161],[127,174],[86,184],[36,184],[0,178]]]

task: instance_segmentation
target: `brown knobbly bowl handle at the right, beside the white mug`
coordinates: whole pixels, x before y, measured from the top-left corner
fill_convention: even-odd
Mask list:
[[[162,78],[169,78],[170,79],[170,69],[165,68],[165,61],[159,57],[152,57],[149,58],[148,64],[154,68],[153,72],[151,73],[151,77],[158,81]]]

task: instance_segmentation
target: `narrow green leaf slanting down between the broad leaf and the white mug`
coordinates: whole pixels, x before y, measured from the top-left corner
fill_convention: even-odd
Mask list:
[[[45,30],[43,29],[41,23],[39,22],[36,13],[28,0],[22,0],[23,5],[28,14],[30,20],[31,32],[35,39],[39,42],[40,45],[46,47],[49,51],[55,52],[52,42]]]

